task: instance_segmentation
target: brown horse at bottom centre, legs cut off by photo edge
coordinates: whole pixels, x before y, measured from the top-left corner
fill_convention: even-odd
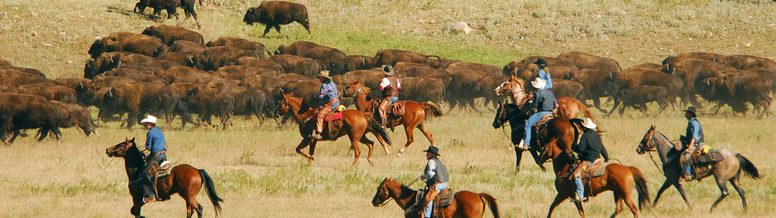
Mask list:
[[[375,197],[372,198],[372,206],[383,206],[390,199],[394,199],[395,202],[404,209],[404,217],[421,217],[421,211],[410,211],[407,213],[407,209],[415,205],[417,199],[417,191],[410,189],[407,186],[402,185],[399,182],[393,182],[390,178],[383,179],[380,185],[377,186],[377,192]],[[485,213],[485,205],[490,208],[490,213],[493,213],[494,218],[501,217],[498,211],[498,204],[493,196],[486,193],[474,193],[469,191],[456,192],[453,196],[452,203],[435,213],[441,213],[442,217],[453,218],[473,218],[483,217]]]

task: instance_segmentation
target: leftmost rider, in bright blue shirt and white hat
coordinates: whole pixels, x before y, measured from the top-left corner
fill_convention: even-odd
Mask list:
[[[167,147],[165,147],[165,134],[156,127],[156,116],[149,115],[140,120],[140,123],[148,130],[145,147],[146,150],[151,151],[151,154],[146,157],[143,178],[140,182],[143,184],[144,201],[152,202],[156,201],[156,195],[154,195],[153,182],[151,182],[151,168],[154,167],[154,164],[161,164],[167,160]]]

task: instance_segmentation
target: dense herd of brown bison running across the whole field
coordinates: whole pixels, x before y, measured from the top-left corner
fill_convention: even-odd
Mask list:
[[[146,113],[199,125],[220,118],[228,126],[234,115],[257,116],[261,123],[272,117],[282,94],[293,94],[313,104],[320,83],[319,71],[331,71],[341,92],[359,80],[376,87],[383,78],[379,66],[394,66],[403,88],[400,99],[473,109],[474,99],[485,107],[503,100],[494,92],[510,75],[531,81],[539,71],[534,63],[544,59],[553,78],[553,92],[582,102],[592,100],[601,112],[633,107],[646,113],[646,103],[697,107],[697,95],[728,105],[734,113],[747,112],[747,102],[760,116],[772,115],[771,95],[776,93],[776,62],[749,55],[702,52],[667,57],[662,64],[639,64],[621,69],[617,61],[582,52],[558,57],[525,57],[504,67],[447,60],[407,50],[379,50],[374,57],[346,55],[316,43],[296,41],[274,51],[262,43],[230,36],[205,42],[195,31],[178,26],[149,26],[142,33],[110,33],[89,48],[93,58],[85,64],[83,78],[51,80],[35,69],[13,67],[0,61],[0,137],[12,142],[26,129],[39,129],[39,140],[60,127],[78,126],[88,136],[95,132],[89,106],[99,109],[103,122],[126,115],[126,127]],[[266,54],[266,55],[265,55]],[[532,88],[531,85],[525,87]],[[530,91],[530,90],[529,90]],[[599,99],[615,102],[601,109]],[[352,99],[341,99],[345,106]],[[622,106],[621,106],[622,104]],[[488,108],[490,109],[490,108]],[[448,111],[449,112],[449,111]],[[477,111],[479,112],[479,111]],[[660,113],[660,112],[658,112]],[[197,119],[192,114],[199,115]],[[279,123],[278,119],[275,122]],[[123,125],[123,124],[122,124]],[[96,132],[95,132],[96,133]]]

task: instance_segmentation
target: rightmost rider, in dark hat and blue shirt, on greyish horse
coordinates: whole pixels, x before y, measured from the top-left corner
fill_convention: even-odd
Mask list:
[[[701,128],[701,122],[699,122],[695,116],[694,106],[690,106],[684,110],[684,118],[687,118],[689,121],[687,123],[687,130],[684,131],[685,137],[681,137],[681,143],[682,147],[684,147],[684,154],[687,154],[685,156],[691,156],[692,154],[695,154],[695,151],[698,151],[698,147],[705,146],[703,144],[703,129]],[[689,158],[686,160],[687,161],[684,161],[682,164],[682,168],[684,168],[684,180],[691,181],[695,178],[691,172],[691,162]]]

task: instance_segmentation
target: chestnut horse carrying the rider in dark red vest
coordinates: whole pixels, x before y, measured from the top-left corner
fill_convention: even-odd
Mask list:
[[[356,79],[345,87],[345,93],[341,97],[353,98],[355,99],[355,109],[362,112],[373,113],[375,112],[376,103],[379,104],[379,99],[372,99],[369,97],[369,92],[371,91],[372,89],[361,85],[361,79]],[[431,142],[432,146],[436,146],[436,144],[434,144],[434,136],[431,136],[431,132],[426,129],[425,121],[426,119],[442,116],[442,109],[427,102],[418,103],[407,101],[404,111],[403,116],[389,116],[386,113],[386,116],[389,116],[388,124],[390,126],[404,126],[404,133],[407,133],[407,144],[404,144],[404,147],[399,150],[397,155],[401,156],[401,154],[404,153],[404,150],[407,147],[410,147],[410,144],[415,141],[415,137],[413,136],[413,130],[415,130],[415,128],[421,130],[421,133],[428,138],[428,141]]]

